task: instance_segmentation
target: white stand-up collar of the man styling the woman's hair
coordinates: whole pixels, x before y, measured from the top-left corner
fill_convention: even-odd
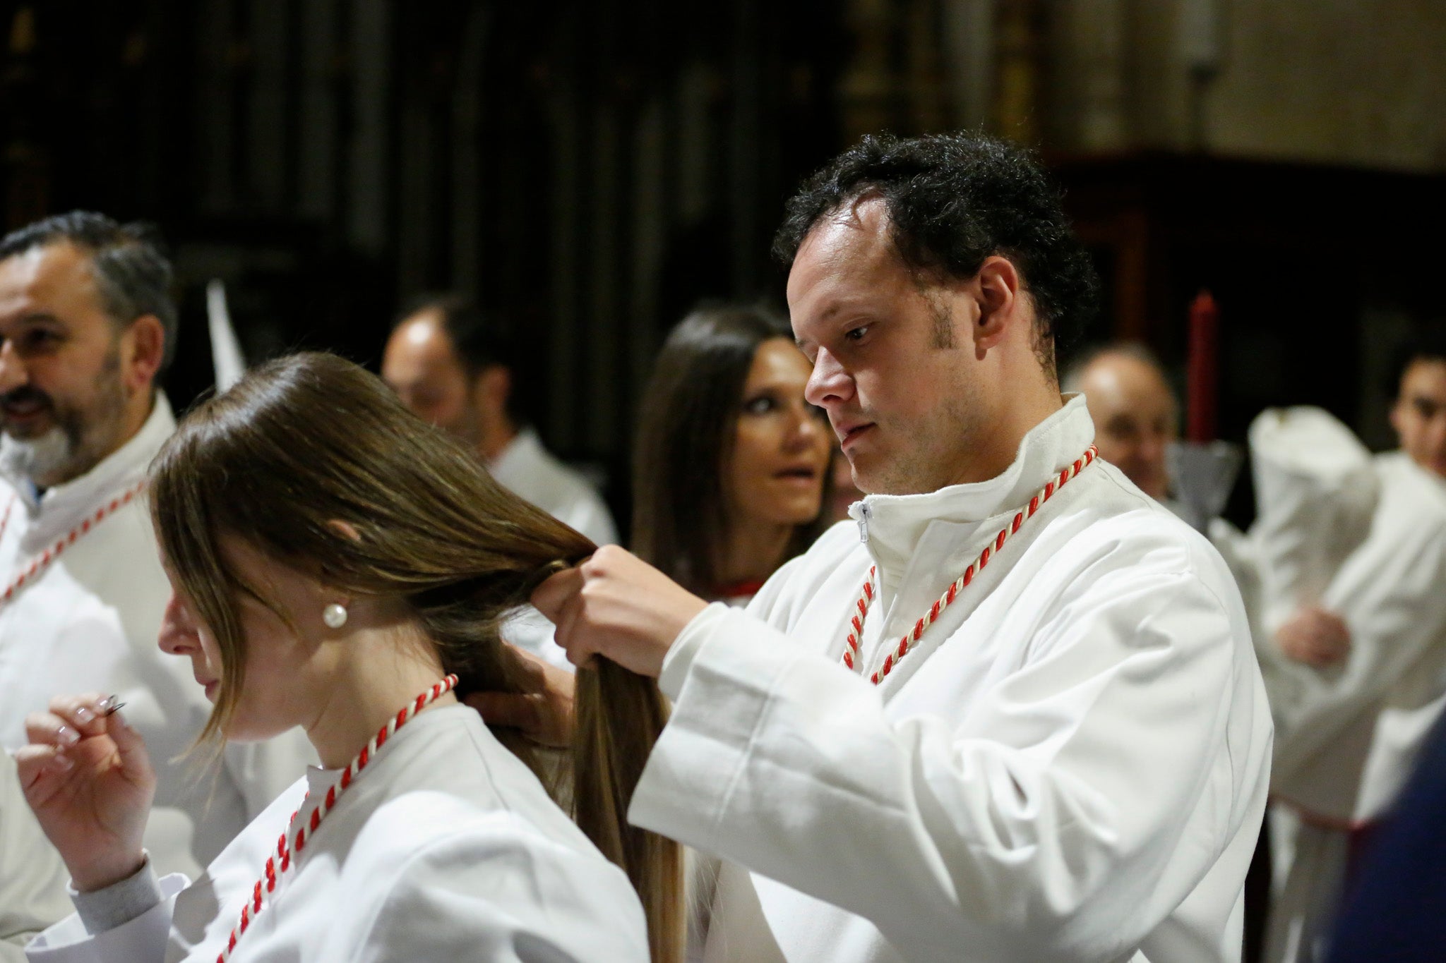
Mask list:
[[[967,537],[985,520],[1028,504],[1051,475],[1089,448],[1095,440],[1095,423],[1084,407],[1084,396],[1076,393],[1064,398],[1058,411],[1030,429],[1014,462],[995,478],[947,485],[921,495],[865,495],[849,507],[849,517],[859,524],[860,537],[878,566],[885,603],[899,591],[931,528],[947,526],[953,536]],[[944,585],[959,576],[957,572],[938,575]]]

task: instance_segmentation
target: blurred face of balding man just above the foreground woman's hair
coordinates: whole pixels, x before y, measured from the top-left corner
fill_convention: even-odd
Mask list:
[[[474,384],[435,312],[412,315],[396,328],[386,342],[382,378],[415,414],[477,445],[482,427]]]

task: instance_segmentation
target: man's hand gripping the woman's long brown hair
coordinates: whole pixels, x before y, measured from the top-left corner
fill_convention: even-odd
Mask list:
[[[558,572],[532,593],[557,625],[557,644],[574,666],[603,655],[656,679],[662,657],[707,602],[638,556],[603,546],[576,569]]]

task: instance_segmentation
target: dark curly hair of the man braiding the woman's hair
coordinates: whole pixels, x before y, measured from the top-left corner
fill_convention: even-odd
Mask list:
[[[1058,188],[1034,156],[970,133],[876,134],[808,178],[787,206],[774,256],[794,263],[820,218],[879,196],[894,244],[917,273],[970,279],[998,254],[1034,297],[1037,351],[1053,374],[1099,309],[1099,276],[1064,217]]]

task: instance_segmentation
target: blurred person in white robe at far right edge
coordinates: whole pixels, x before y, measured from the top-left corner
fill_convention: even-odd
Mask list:
[[[1316,409],[1251,429],[1277,648],[1272,963],[1323,959],[1355,858],[1446,706],[1446,338],[1410,342],[1395,372],[1400,450],[1372,458]]]

